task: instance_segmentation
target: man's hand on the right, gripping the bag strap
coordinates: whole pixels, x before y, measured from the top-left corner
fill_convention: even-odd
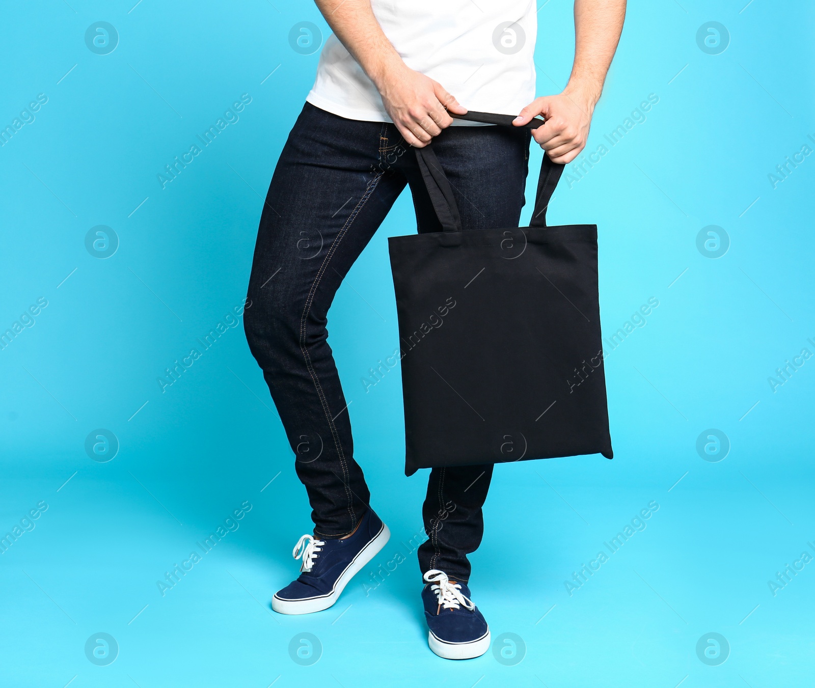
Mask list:
[[[568,163],[585,148],[592,123],[594,103],[577,95],[544,95],[535,98],[513,121],[525,125],[532,117],[543,115],[546,123],[532,130],[532,138],[548,152],[553,162]]]

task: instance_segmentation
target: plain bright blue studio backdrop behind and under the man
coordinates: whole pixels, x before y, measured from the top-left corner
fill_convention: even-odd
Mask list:
[[[587,150],[649,94],[659,103],[583,179],[562,183],[550,218],[600,227],[606,336],[649,298],[659,307],[606,351],[615,460],[496,470],[470,582],[493,637],[525,643],[508,666],[492,652],[459,664],[430,653],[414,555],[363,586],[421,533],[426,471],[403,475],[399,371],[368,393],[360,381],[396,346],[386,237],[414,231],[408,196],[329,324],[356,458],[392,540],[332,609],[269,609],[296,575],[290,551],[309,509],[241,328],[164,393],[156,378],[244,298],[262,197],[319,55],[294,51],[289,30],[328,29],[305,0],[133,3],[3,6],[0,126],[37,94],[48,101],[0,148],[0,329],[37,298],[48,306],[0,351],[0,533],[38,501],[48,509],[0,555],[2,684],[811,682],[815,562],[774,596],[768,585],[815,554],[815,360],[774,392],[768,382],[804,346],[815,352],[815,156],[775,188],[768,179],[804,143],[815,148],[811,5],[628,7]],[[538,16],[545,95],[571,68],[571,2],[549,0]],[[86,46],[99,20],[119,34],[108,55]],[[719,55],[696,40],[711,20],[729,31]],[[240,120],[162,189],[156,174],[245,93]],[[104,260],[85,247],[100,224],[120,240]],[[707,225],[729,236],[721,258],[697,249]],[[121,444],[112,461],[85,452],[97,428]],[[729,438],[723,461],[696,451],[708,428]],[[243,501],[253,508],[240,528],[162,597],[156,580]],[[564,581],[649,501],[659,510],[645,531],[570,596]],[[108,666],[86,658],[99,632],[119,647]],[[322,646],[311,666],[289,655],[304,632]],[[729,641],[724,664],[698,658],[708,633]]]

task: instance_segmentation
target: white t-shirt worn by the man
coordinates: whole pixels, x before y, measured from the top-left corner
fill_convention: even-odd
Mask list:
[[[371,0],[371,7],[405,64],[465,108],[517,115],[535,99],[534,0]],[[306,100],[347,119],[391,121],[376,86],[333,34]]]

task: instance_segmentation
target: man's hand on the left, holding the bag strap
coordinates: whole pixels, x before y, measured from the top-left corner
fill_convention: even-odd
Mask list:
[[[378,85],[385,111],[394,121],[405,142],[424,148],[434,136],[453,122],[447,111],[465,115],[461,106],[442,85],[407,65],[389,70]]]

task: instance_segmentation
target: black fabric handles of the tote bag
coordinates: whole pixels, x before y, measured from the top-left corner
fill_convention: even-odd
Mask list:
[[[456,115],[449,113],[451,117],[460,120],[480,121],[484,124],[497,124],[501,126],[513,126],[514,117],[512,115],[499,115],[494,112],[475,112],[470,110],[466,115]],[[533,119],[524,125],[526,129],[537,129],[544,123],[541,119]],[[444,174],[442,166],[438,163],[438,158],[433,150],[432,143],[428,143],[425,148],[416,148],[416,161],[419,164],[422,179],[425,180],[427,192],[430,194],[430,201],[438,215],[438,221],[442,224],[445,232],[460,232],[461,218],[453,197],[452,187]],[[540,164],[540,174],[538,176],[538,190],[535,193],[535,209],[532,211],[530,227],[546,227],[546,208],[552,198],[552,194],[557,187],[563,168],[566,165],[553,162],[544,153],[544,160]]]

